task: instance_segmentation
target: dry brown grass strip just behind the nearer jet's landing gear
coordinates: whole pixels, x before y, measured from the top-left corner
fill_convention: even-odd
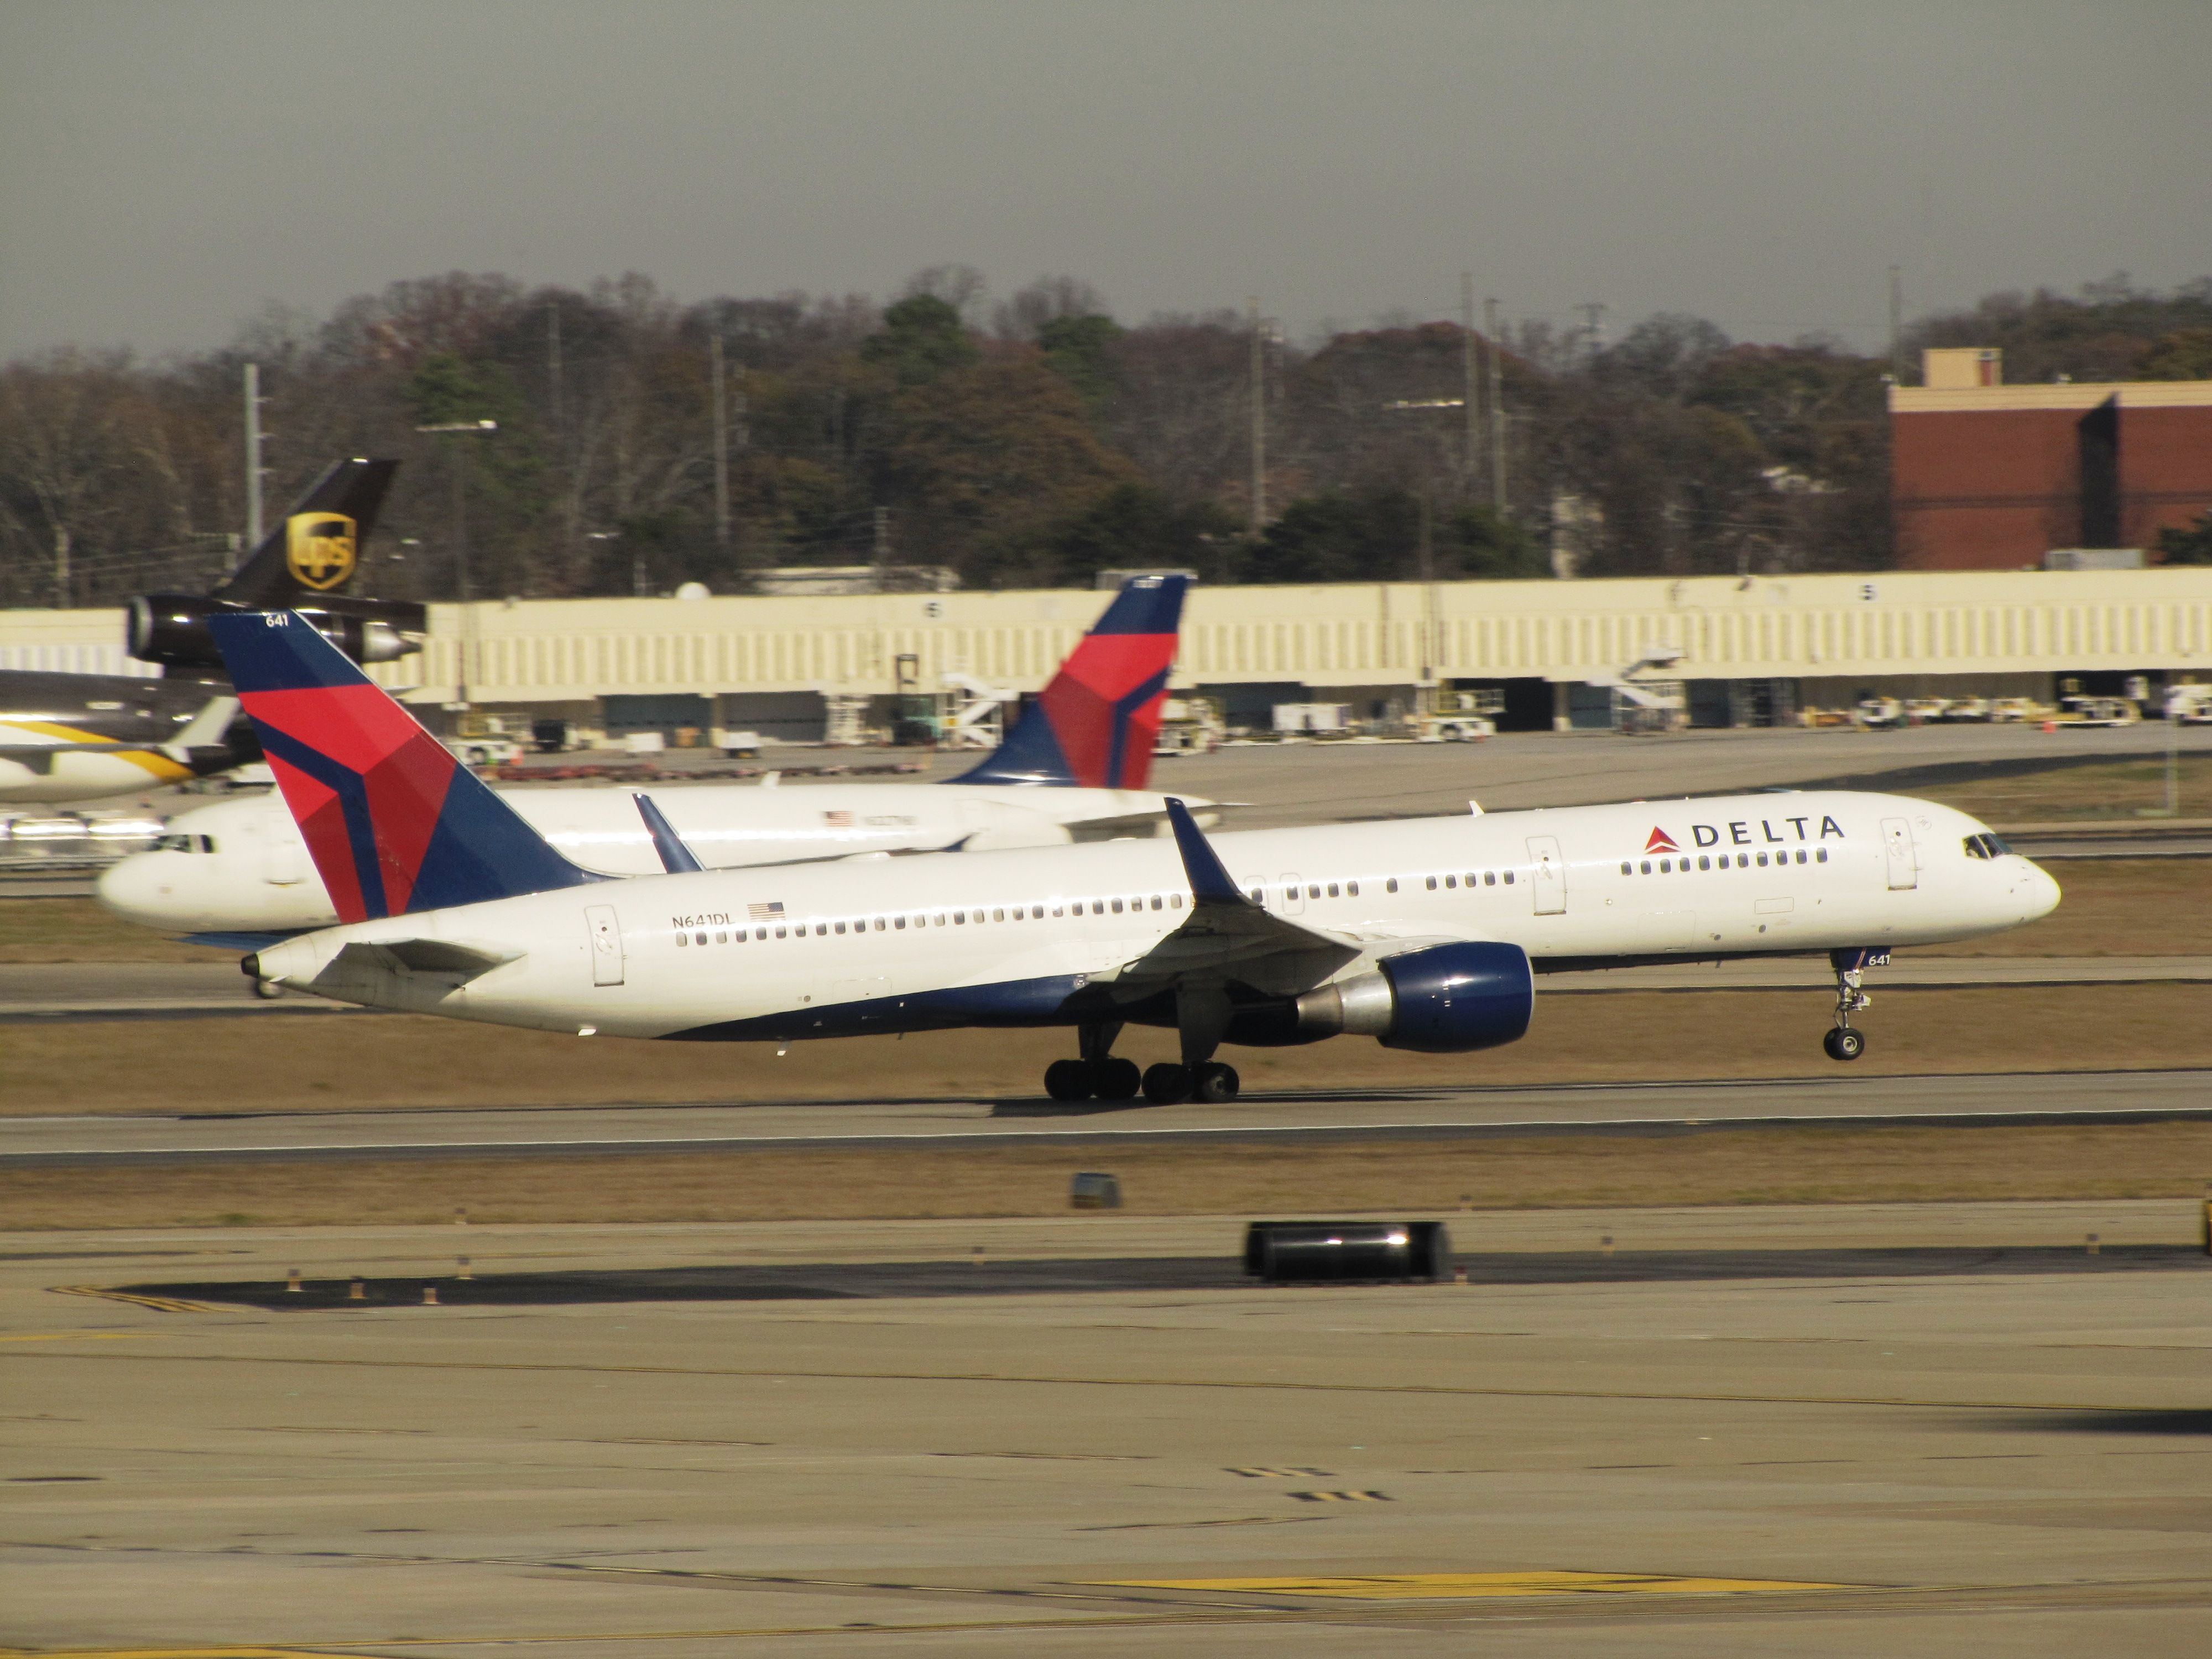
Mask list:
[[[2212,1062],[2190,984],[1880,991],[1854,1075],[2168,1068]],[[1245,1093],[1699,1077],[1829,1077],[1825,991],[1537,987],[1528,1037],[1478,1055],[1411,1055],[1367,1037],[1237,1048]],[[20,1024],[0,1029],[0,1115],[347,1110],[608,1102],[1035,1097],[1068,1031],[936,1031],[792,1044],[624,1042],[400,1015]],[[1172,1057],[1164,1031],[1119,1051]]]

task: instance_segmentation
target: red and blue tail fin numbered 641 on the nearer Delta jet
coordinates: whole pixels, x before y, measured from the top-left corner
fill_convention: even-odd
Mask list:
[[[292,611],[208,626],[341,922],[597,880]]]

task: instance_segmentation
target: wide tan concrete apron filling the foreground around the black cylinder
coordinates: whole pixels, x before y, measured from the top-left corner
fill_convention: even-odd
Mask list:
[[[128,1287],[451,1294],[453,1230],[4,1234],[9,1641],[2194,1655],[2192,1219],[1475,1214],[1471,1283],[1329,1290],[1237,1283],[1241,1217],[469,1228],[491,1279],[869,1294],[301,1312]]]

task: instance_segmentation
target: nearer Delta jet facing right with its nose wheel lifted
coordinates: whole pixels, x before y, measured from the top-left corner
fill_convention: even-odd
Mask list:
[[[699,869],[580,869],[338,650],[285,613],[217,641],[341,927],[272,940],[257,980],[338,1002],[580,1037],[792,1042],[1077,1029],[1060,1099],[1230,1099],[1230,1044],[1363,1033],[1471,1053],[1528,1029],[1533,967],[1827,951],[1856,1060],[1860,971],[1896,945],[2046,916],[2057,883],[1951,807],[1807,792],[1208,841]],[[1110,1046],[1170,1026],[1141,1077]]]

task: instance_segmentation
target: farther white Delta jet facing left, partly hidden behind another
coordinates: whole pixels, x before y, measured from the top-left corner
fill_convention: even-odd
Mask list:
[[[1144,785],[1186,586],[1179,575],[1130,577],[1037,706],[958,779],[695,785],[666,792],[661,805],[710,869],[1161,832],[1164,801]],[[624,790],[515,790],[504,799],[586,869],[641,876],[661,867]],[[274,794],[177,814],[155,849],[102,874],[100,900],[117,916],[173,933],[296,933],[338,920],[292,814]]]

